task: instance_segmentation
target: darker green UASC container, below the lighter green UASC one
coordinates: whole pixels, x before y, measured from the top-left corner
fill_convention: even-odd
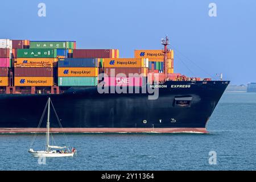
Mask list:
[[[55,58],[57,56],[56,49],[18,49],[17,57],[21,58]]]

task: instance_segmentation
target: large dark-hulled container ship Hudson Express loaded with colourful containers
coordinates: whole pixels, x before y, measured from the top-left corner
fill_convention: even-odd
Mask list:
[[[229,81],[175,73],[169,39],[162,44],[121,58],[75,41],[0,39],[0,133],[38,131],[48,97],[63,127],[52,122],[51,132],[207,133]]]

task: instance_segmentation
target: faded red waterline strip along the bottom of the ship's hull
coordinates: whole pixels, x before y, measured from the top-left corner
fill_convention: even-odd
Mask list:
[[[51,133],[208,133],[205,128],[51,128]],[[0,128],[0,133],[46,133],[37,128]]]

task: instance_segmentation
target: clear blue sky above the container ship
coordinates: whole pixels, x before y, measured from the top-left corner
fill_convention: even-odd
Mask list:
[[[46,4],[46,17],[38,4]],[[208,15],[209,3],[217,17]],[[78,48],[161,49],[168,35],[175,72],[232,84],[256,81],[256,1],[1,1],[0,38],[76,40]],[[216,78],[216,77],[215,77]]]

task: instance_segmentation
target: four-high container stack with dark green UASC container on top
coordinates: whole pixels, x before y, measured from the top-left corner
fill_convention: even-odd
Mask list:
[[[18,49],[14,65],[15,86],[52,86],[56,49]]]

